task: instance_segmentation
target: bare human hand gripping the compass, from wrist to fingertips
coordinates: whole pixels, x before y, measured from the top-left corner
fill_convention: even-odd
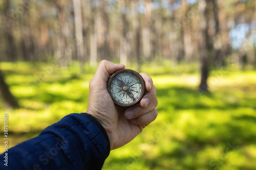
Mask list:
[[[113,64],[102,60],[89,84],[89,101],[87,113],[94,116],[104,127],[110,139],[111,150],[134,139],[142,130],[157,117],[155,109],[156,87],[150,76],[140,73],[145,81],[146,94],[140,104],[124,110],[114,105],[106,89],[106,82],[114,72],[124,69],[123,64]]]

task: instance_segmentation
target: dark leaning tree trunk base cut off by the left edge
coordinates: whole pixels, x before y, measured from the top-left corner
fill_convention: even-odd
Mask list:
[[[3,103],[6,108],[16,108],[18,103],[15,100],[14,96],[9,90],[8,85],[6,84],[2,72],[0,71],[0,93]]]

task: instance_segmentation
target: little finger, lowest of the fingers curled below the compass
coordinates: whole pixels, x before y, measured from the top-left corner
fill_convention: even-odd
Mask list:
[[[148,125],[157,118],[157,115],[158,115],[157,110],[154,109],[148,112],[147,114],[131,119],[130,122],[134,125]]]

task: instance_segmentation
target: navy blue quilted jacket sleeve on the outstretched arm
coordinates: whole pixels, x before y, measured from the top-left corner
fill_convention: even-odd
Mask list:
[[[0,169],[101,169],[110,142],[93,116],[73,113],[7,153],[8,166],[4,165],[4,153]]]

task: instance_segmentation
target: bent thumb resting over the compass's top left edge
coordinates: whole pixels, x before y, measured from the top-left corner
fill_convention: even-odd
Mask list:
[[[95,79],[98,82],[104,82],[105,84],[106,82],[108,82],[110,76],[114,74],[114,72],[124,68],[125,65],[123,64],[114,64],[111,61],[102,60],[99,63],[99,66],[95,72],[93,79]]]

